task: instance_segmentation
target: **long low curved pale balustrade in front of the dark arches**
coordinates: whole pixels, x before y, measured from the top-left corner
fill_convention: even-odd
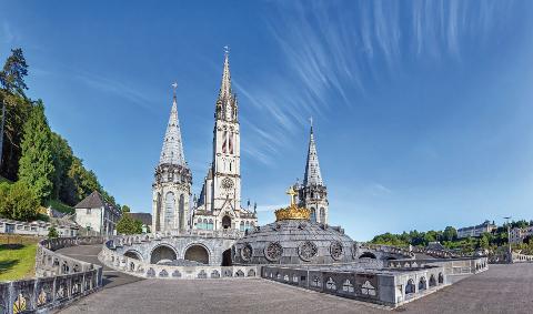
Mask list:
[[[130,237],[127,237],[127,240]],[[171,266],[150,264],[137,259],[117,253],[114,242],[120,237],[109,240],[98,255],[100,262],[113,270],[145,278],[221,278],[221,277],[255,277],[259,276],[260,266]]]

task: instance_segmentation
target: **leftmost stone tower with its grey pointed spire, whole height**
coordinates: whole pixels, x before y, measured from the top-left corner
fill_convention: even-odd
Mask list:
[[[192,174],[181,141],[178,101],[174,95],[161,158],[152,184],[152,232],[184,231],[189,226]]]

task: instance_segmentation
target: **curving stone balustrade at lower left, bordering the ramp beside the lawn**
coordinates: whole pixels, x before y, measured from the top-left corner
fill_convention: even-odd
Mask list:
[[[39,242],[36,254],[38,277],[1,282],[0,313],[47,312],[101,288],[101,266],[53,251],[102,242],[102,237],[60,237]]]

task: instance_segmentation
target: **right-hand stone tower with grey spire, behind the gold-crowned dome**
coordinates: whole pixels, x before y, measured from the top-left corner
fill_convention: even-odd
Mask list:
[[[308,160],[303,183],[296,183],[300,206],[311,210],[311,221],[328,224],[328,189],[320,173],[319,155],[314,142],[313,125],[309,138]]]

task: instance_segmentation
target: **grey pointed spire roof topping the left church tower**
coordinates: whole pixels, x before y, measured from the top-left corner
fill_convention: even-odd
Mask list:
[[[174,94],[172,98],[172,109],[170,110],[169,124],[164,133],[163,148],[159,164],[177,164],[185,166],[185,155],[181,141],[180,120],[178,119],[178,100],[175,97],[177,83],[173,83]]]

